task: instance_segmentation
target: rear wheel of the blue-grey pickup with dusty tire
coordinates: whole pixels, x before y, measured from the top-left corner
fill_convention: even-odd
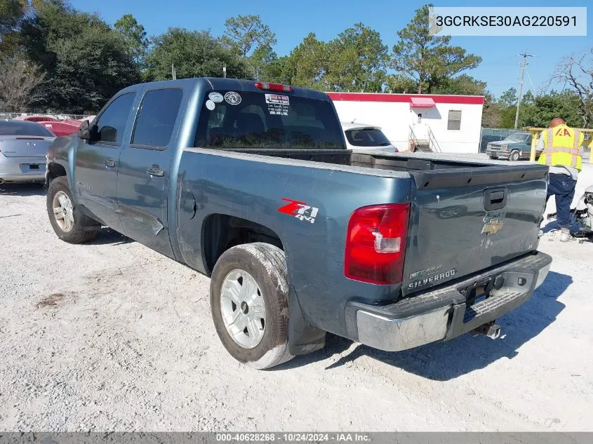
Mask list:
[[[265,369],[288,351],[288,270],[284,251],[269,243],[229,248],[214,266],[210,304],[220,342],[233,358]]]

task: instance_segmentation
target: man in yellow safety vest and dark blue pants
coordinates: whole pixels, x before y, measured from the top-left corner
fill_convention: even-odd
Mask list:
[[[539,163],[549,166],[547,198],[554,195],[556,212],[560,225],[560,241],[570,241],[571,203],[575,195],[575,185],[582,163],[582,140],[579,130],[566,126],[559,117],[552,119],[550,128],[542,131],[538,151],[543,150]]]

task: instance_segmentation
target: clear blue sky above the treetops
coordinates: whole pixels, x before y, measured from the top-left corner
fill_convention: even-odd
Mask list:
[[[113,24],[126,13],[131,13],[144,25],[149,36],[161,34],[168,27],[185,27],[191,30],[211,29],[214,35],[222,35],[225,20],[234,15],[258,14],[272,31],[278,43],[274,50],[278,55],[288,55],[309,33],[328,41],[354,23],[380,32],[383,43],[389,50],[397,42],[397,31],[406,27],[415,10],[425,1],[408,0],[299,0],[299,1],[244,1],[222,0],[71,0],[80,10],[96,12]],[[541,6],[592,6],[591,0],[563,2],[538,0],[517,1],[434,1],[435,6],[531,6],[537,13]],[[588,36],[453,36],[451,44],[462,46],[467,52],[481,56],[479,67],[467,74],[486,81],[488,90],[495,96],[508,88],[518,88],[521,58],[527,51],[529,58],[524,91],[539,91],[546,88],[557,63],[564,55],[582,53],[593,47],[593,7],[587,11]],[[561,90],[564,85],[552,84]]]

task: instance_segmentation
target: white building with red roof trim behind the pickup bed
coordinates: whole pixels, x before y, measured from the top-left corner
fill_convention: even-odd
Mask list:
[[[481,95],[328,93],[340,120],[380,126],[399,151],[479,152]]]

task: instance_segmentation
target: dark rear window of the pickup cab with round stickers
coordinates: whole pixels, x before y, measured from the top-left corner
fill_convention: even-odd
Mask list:
[[[218,90],[202,104],[196,147],[345,149],[330,102]]]

